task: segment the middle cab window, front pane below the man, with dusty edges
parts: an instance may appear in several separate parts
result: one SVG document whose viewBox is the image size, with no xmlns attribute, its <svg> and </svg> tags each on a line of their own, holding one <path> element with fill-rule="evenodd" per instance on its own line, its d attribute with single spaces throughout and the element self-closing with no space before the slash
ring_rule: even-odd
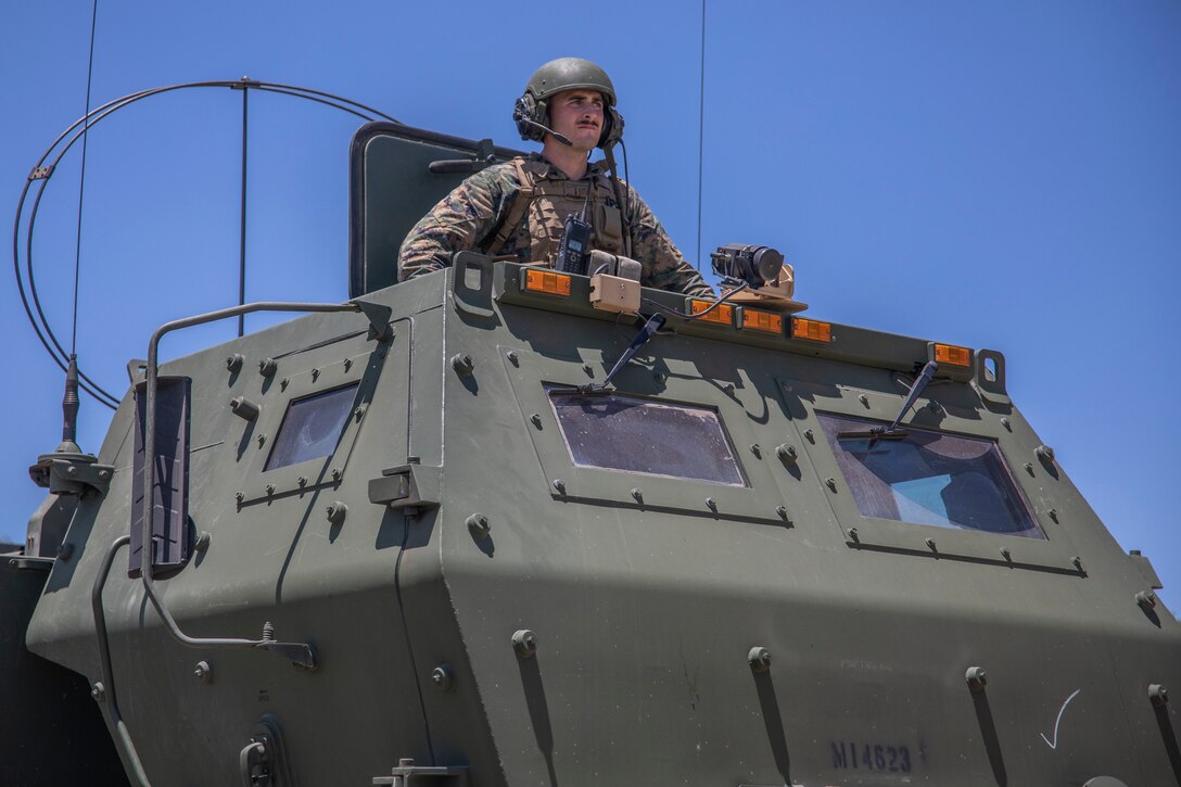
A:
<svg viewBox="0 0 1181 787">
<path fill-rule="evenodd" d="M 745 486 L 716 410 L 615 394 L 550 403 L 579 467 Z"/>
</svg>

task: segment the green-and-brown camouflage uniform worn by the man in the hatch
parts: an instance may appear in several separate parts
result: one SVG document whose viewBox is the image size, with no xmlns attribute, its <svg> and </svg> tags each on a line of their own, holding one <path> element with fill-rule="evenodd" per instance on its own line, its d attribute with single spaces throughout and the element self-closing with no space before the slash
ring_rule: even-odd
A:
<svg viewBox="0 0 1181 787">
<path fill-rule="evenodd" d="M 540 174 L 542 180 L 552 182 L 568 181 L 566 174 L 549 164 L 536 154 L 526 161 L 530 171 Z M 592 163 L 586 177 L 578 183 L 593 183 L 595 199 L 612 208 L 619 208 L 611 187 L 607 184 L 605 165 Z M 702 277 L 685 262 L 680 252 L 673 245 L 664 227 L 657 221 L 648 206 L 631 186 L 621 182 L 627 189 L 626 203 L 629 212 L 627 226 L 631 230 L 632 259 L 640 262 L 644 273 L 640 284 L 646 287 L 658 287 L 691 295 L 713 298 L 713 290 Z M 476 173 L 443 199 L 435 208 L 415 225 L 406 235 L 398 255 L 399 278 L 402 280 L 438 271 L 451 265 L 451 255 L 462 251 L 479 251 L 485 254 L 513 256 L 521 262 L 541 261 L 535 249 L 550 253 L 544 261 L 553 264 L 553 252 L 556 245 L 546 242 L 546 230 L 530 222 L 531 210 L 527 210 L 518 226 L 508 233 L 501 248 L 495 245 L 497 232 L 507 219 L 513 203 L 521 191 L 521 180 L 517 167 L 513 162 L 496 164 Z M 559 221 L 565 220 L 561 216 Z M 530 225 L 535 225 L 530 227 Z M 553 217 L 548 222 L 553 233 Z M 595 222 L 592 222 L 595 223 Z M 595 229 L 596 238 L 599 227 Z M 540 236 L 540 239 L 539 239 Z M 594 243 L 595 248 L 612 253 L 622 249 L 603 248 L 603 243 Z"/>
</svg>

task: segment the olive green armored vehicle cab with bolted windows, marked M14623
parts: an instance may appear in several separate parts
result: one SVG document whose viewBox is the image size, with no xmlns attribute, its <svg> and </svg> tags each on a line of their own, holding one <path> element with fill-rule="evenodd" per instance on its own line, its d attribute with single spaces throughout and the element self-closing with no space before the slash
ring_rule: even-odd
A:
<svg viewBox="0 0 1181 787">
<path fill-rule="evenodd" d="M 347 311 L 123 399 L 25 640 L 132 781 L 1177 782 L 1181 627 L 999 352 L 645 290 L 603 386 L 583 277 L 386 286 L 509 154 L 366 126 Z"/>
</svg>

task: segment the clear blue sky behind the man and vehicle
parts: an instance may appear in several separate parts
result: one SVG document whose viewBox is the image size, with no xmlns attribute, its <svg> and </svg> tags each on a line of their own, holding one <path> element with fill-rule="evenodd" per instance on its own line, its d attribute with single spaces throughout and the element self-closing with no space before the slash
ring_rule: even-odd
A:
<svg viewBox="0 0 1181 787">
<path fill-rule="evenodd" d="M 89 2 L 0 5 L 0 219 L 83 113 L 89 38 Z M 529 73 L 588 57 L 615 80 L 632 182 L 696 258 L 699 48 L 696 2 L 106 0 L 92 104 L 248 74 L 517 145 L 510 108 Z M 703 246 L 779 248 L 816 317 L 1003 351 L 1026 418 L 1175 609 L 1181 4 L 713 0 L 705 64 Z M 117 394 L 157 325 L 236 299 L 240 102 L 174 93 L 90 138 L 78 351 Z M 358 121 L 267 95 L 250 117 L 248 298 L 345 299 Z M 34 247 L 64 340 L 78 162 L 51 178 Z M 0 536 L 19 541 L 41 496 L 25 468 L 60 438 L 60 375 L 11 273 L 0 293 Z M 107 417 L 84 399 L 85 449 Z"/>
</svg>

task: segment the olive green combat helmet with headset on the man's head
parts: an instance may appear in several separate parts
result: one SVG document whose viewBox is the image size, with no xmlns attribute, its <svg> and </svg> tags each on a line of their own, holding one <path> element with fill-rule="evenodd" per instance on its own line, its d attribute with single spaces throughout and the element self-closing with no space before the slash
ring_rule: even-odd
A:
<svg viewBox="0 0 1181 787">
<path fill-rule="evenodd" d="M 516 121 L 521 138 L 537 142 L 544 139 L 546 131 L 539 125 L 549 125 L 548 102 L 567 90 L 594 90 L 602 93 L 606 106 L 599 147 L 611 148 L 619 142 L 624 136 L 624 118 L 615 110 L 615 86 L 606 71 L 583 58 L 557 58 L 533 72 L 524 93 L 513 108 L 513 119 Z"/>
</svg>

